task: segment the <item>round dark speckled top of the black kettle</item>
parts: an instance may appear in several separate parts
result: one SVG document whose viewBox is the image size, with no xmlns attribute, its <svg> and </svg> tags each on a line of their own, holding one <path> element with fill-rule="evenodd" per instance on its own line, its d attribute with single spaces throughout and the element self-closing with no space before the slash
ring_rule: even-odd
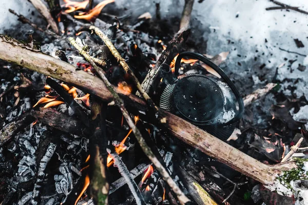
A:
<svg viewBox="0 0 308 205">
<path fill-rule="evenodd" d="M 198 124 L 214 120 L 223 110 L 220 87 L 204 75 L 181 76 L 174 90 L 174 99 L 176 109 Z"/>
</svg>

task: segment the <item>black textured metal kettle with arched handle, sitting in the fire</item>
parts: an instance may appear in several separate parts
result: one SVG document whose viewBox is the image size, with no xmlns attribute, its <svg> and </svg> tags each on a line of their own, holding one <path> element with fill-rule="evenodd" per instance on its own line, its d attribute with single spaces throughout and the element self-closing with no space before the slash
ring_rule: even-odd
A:
<svg viewBox="0 0 308 205">
<path fill-rule="evenodd" d="M 186 56 L 213 68 L 225 83 L 200 74 L 178 76 L 181 59 Z M 178 55 L 174 74 L 177 77 L 171 77 L 171 80 L 169 75 L 169 84 L 160 97 L 160 108 L 186 119 L 217 138 L 228 139 L 243 115 L 244 104 L 239 91 L 223 70 L 203 55 L 187 51 Z"/>
</svg>

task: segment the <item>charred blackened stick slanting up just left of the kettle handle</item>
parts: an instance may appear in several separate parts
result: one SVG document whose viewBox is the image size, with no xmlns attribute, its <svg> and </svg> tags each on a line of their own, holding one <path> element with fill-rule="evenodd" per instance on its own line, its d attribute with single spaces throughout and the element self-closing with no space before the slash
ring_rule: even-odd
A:
<svg viewBox="0 0 308 205">
<path fill-rule="evenodd" d="M 181 44 L 186 40 L 188 36 L 189 30 L 180 30 L 172 40 L 170 40 L 166 50 L 160 55 L 159 59 L 155 66 L 148 71 L 147 75 L 145 76 L 141 87 L 146 93 L 150 93 L 150 88 L 155 82 L 156 78 L 158 77 L 161 66 L 163 64 L 170 64 L 171 60 L 179 53 L 179 47 Z M 171 59 L 168 61 L 168 59 Z M 139 95 L 139 93 L 137 93 Z"/>
</svg>

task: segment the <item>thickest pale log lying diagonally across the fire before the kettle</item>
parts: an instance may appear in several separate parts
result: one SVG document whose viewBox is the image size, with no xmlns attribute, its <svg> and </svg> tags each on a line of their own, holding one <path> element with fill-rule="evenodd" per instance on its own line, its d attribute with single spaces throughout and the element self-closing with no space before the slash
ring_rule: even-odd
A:
<svg viewBox="0 0 308 205">
<path fill-rule="evenodd" d="M 66 83 L 79 87 L 85 92 L 101 97 L 104 101 L 113 100 L 110 91 L 98 77 L 84 71 L 76 71 L 75 67 L 70 64 L 27 48 L 16 40 L 3 35 L 0 35 L 0 59 L 66 81 Z M 120 93 L 119 90 L 117 92 Z M 146 104 L 142 99 L 131 94 L 121 95 L 121 97 L 125 103 L 130 103 L 133 107 L 146 111 Z M 265 165 L 186 120 L 161 109 L 160 111 L 166 122 L 161 125 L 166 127 L 172 135 L 265 185 L 274 183 L 277 174 L 282 171 L 297 168 L 293 161 L 275 166 Z"/>
</svg>

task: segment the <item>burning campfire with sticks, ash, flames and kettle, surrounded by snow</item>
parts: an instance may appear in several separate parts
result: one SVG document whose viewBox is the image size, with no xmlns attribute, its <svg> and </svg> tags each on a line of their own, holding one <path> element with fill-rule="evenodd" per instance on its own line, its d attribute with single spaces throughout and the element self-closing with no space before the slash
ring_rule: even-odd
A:
<svg viewBox="0 0 308 205">
<path fill-rule="evenodd" d="M 204 53 L 191 13 L 206 2 L 171 20 L 164 2 L 137 17 L 29 2 L 48 25 L 10 8 L 33 32 L 0 35 L 0 204 L 307 202 L 307 101 L 279 79 L 247 89 L 260 79 L 229 71 L 232 51 Z"/>
</svg>

